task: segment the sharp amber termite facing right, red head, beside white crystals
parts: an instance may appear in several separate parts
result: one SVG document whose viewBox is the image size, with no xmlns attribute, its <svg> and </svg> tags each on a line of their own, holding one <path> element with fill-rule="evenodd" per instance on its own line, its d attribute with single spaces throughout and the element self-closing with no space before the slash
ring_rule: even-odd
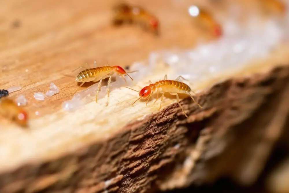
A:
<svg viewBox="0 0 289 193">
<path fill-rule="evenodd" d="M 79 68 L 83 68 L 83 67 L 79 67 Z M 81 82 L 79 87 L 81 87 L 85 82 L 91 82 L 91 81 L 92 82 L 99 82 L 98 87 L 97 87 L 97 93 L 95 96 L 95 100 L 97 102 L 97 95 L 100 91 L 102 80 L 108 78 L 107 93 L 108 93 L 108 97 L 109 97 L 110 82 L 111 82 L 111 79 L 112 79 L 112 76 L 114 75 L 114 73 L 116 75 L 120 76 L 121 78 L 123 78 L 123 80 L 125 80 L 124 76 L 127 75 L 132 81 L 134 81 L 131 78 L 131 76 L 129 76 L 129 74 L 128 74 L 128 73 L 132 73 L 132 72 L 136 72 L 136 71 L 125 71 L 120 66 L 109 66 L 108 64 L 106 64 L 105 66 L 102 66 L 102 67 L 89 68 L 89 69 L 85 69 L 85 70 L 79 72 L 78 75 L 76 76 L 75 82 Z M 125 83 L 127 83 L 126 80 L 125 80 Z"/>
</svg>

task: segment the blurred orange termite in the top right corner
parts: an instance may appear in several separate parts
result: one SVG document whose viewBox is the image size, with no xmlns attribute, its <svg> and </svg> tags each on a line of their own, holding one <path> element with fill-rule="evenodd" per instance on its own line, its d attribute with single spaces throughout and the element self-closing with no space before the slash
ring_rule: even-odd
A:
<svg viewBox="0 0 289 193">
<path fill-rule="evenodd" d="M 286 5 L 280 0 L 259 0 L 265 13 L 284 16 L 286 14 Z"/>
</svg>

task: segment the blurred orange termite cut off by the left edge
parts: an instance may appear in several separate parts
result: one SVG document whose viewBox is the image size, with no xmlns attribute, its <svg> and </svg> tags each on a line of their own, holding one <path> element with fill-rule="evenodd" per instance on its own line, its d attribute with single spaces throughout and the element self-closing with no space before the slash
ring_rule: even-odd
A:
<svg viewBox="0 0 289 193">
<path fill-rule="evenodd" d="M 27 127 L 27 112 L 8 97 L 0 99 L 0 114 L 22 127 Z"/>
</svg>

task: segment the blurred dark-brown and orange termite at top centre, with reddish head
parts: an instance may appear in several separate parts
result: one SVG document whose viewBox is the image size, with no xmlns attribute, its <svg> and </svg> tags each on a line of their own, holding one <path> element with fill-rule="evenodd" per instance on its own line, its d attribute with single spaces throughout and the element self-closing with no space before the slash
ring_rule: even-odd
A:
<svg viewBox="0 0 289 193">
<path fill-rule="evenodd" d="M 141 7 L 130 6 L 126 3 L 120 3 L 114 7 L 113 23 L 114 25 L 136 23 L 156 35 L 159 34 L 159 21 L 153 14 Z"/>
</svg>

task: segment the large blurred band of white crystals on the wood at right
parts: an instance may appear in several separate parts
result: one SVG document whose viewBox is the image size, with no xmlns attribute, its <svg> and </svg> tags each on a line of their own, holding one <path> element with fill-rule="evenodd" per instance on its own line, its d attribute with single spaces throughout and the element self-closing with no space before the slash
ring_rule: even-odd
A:
<svg viewBox="0 0 289 193">
<path fill-rule="evenodd" d="M 269 20 L 263 26 L 258 25 L 258 21 L 250 21 L 244 30 L 227 33 L 217 41 L 181 53 L 167 51 L 160 55 L 177 76 L 204 80 L 221 71 L 242 69 L 254 58 L 268 56 L 283 38 L 284 29 L 275 21 Z"/>
</svg>

